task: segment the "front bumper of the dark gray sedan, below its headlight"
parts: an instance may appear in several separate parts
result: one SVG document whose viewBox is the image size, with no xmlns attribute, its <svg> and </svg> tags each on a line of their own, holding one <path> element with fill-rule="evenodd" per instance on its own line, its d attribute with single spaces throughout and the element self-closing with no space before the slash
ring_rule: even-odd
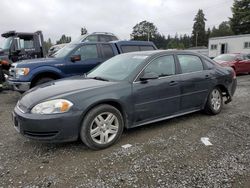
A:
<svg viewBox="0 0 250 188">
<path fill-rule="evenodd" d="M 23 113 L 15 107 L 14 128 L 23 136 L 44 142 L 69 142 L 78 139 L 81 112 L 40 115 Z"/>
</svg>

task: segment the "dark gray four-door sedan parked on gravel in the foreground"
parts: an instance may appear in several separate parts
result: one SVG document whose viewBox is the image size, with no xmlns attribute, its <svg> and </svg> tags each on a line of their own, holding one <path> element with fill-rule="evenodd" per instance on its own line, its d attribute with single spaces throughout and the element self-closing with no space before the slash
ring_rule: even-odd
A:
<svg viewBox="0 0 250 188">
<path fill-rule="evenodd" d="M 235 89 L 232 68 L 196 53 L 122 54 L 86 76 L 49 82 L 26 92 L 14 109 L 14 127 L 31 139 L 80 138 L 89 148 L 103 149 L 114 144 L 124 128 L 200 110 L 218 114 Z"/>
</svg>

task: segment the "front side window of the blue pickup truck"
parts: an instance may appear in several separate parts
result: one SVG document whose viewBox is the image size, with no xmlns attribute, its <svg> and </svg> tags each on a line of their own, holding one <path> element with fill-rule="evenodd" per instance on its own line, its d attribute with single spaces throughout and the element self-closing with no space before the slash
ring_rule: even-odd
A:
<svg viewBox="0 0 250 188">
<path fill-rule="evenodd" d="M 81 46 L 74 52 L 74 55 L 80 55 L 81 60 L 98 58 L 97 47 L 95 44 Z"/>
</svg>

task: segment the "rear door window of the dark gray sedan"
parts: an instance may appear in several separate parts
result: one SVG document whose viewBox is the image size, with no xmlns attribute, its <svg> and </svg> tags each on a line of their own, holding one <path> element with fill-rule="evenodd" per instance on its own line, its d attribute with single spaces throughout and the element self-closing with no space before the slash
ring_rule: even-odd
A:
<svg viewBox="0 0 250 188">
<path fill-rule="evenodd" d="M 199 57 L 194 55 L 177 55 L 182 73 L 197 72 L 203 70 L 203 64 Z"/>
</svg>

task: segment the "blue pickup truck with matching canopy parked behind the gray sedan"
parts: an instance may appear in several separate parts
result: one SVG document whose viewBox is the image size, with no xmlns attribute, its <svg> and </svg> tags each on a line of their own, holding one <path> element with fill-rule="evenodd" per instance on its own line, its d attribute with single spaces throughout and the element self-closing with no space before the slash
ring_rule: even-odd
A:
<svg viewBox="0 0 250 188">
<path fill-rule="evenodd" d="M 50 58 L 13 63 L 8 83 L 24 92 L 56 79 L 83 75 L 105 60 L 127 52 L 156 50 L 152 42 L 112 41 L 68 44 Z"/>
</svg>

